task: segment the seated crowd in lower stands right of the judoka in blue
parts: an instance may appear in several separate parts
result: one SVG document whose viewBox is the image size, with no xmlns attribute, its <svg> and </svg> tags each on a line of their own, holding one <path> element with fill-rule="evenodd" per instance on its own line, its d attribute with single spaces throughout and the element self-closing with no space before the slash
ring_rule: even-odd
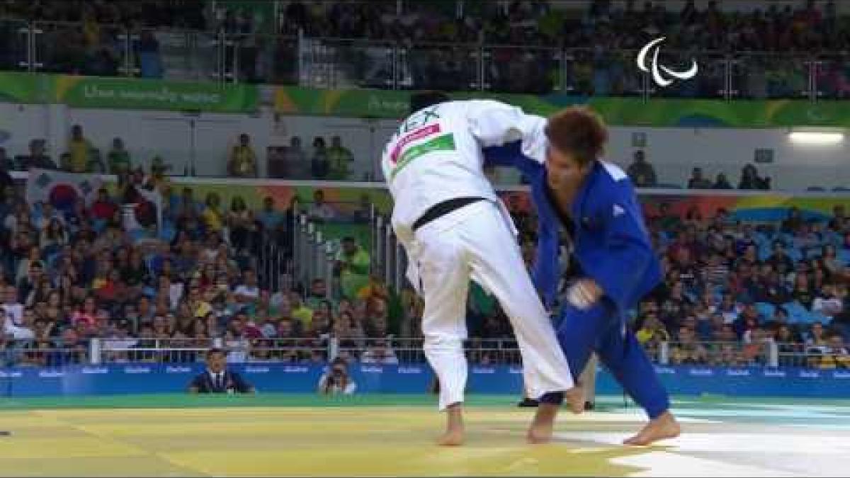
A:
<svg viewBox="0 0 850 478">
<path fill-rule="evenodd" d="M 526 225 L 533 258 L 534 219 Z M 662 203 L 647 222 L 664 282 L 634 311 L 632 327 L 650 355 L 670 344 L 672 364 L 766 365 L 768 343 L 779 365 L 848 368 L 850 217 L 837 206 L 829 221 L 791 208 L 780 224 L 741 222 L 718 209 L 672 213 Z"/>
</svg>

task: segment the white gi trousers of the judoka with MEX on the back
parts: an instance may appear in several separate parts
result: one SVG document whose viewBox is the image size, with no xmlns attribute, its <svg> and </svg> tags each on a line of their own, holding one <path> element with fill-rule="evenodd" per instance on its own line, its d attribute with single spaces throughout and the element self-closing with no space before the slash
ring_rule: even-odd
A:
<svg viewBox="0 0 850 478">
<path fill-rule="evenodd" d="M 570 366 L 525 269 L 513 230 L 494 202 L 474 202 L 422 225 L 409 249 L 421 281 L 414 287 L 421 289 L 425 301 L 424 351 L 439 378 L 441 411 L 463 401 L 467 383 L 463 340 L 470 279 L 494 294 L 510 318 L 530 396 L 573 387 Z"/>
</svg>

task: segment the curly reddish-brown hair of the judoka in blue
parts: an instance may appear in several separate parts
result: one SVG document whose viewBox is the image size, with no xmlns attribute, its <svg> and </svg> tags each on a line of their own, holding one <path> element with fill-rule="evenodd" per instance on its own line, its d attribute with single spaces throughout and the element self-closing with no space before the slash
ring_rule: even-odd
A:
<svg viewBox="0 0 850 478">
<path fill-rule="evenodd" d="M 599 159 L 608 141 L 608 129 L 602 118 L 583 106 L 558 111 L 546 125 L 549 144 L 570 153 L 580 166 Z"/>
</svg>

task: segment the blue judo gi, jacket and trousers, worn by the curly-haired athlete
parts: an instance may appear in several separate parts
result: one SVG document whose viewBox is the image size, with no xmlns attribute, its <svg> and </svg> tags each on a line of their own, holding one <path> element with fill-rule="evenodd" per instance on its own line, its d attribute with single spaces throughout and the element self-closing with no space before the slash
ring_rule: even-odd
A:
<svg viewBox="0 0 850 478">
<path fill-rule="evenodd" d="M 544 304 L 551 308 L 558 295 L 559 231 L 572 226 L 573 257 L 581 276 L 604 291 L 587 310 L 565 303 L 560 312 L 558 342 L 578 380 L 592 351 L 649 418 L 670 407 L 655 367 L 626 327 L 626 310 L 636 306 L 661 280 L 660 263 L 652 250 L 631 181 L 620 168 L 595 162 L 562 219 L 547 191 L 546 167 L 523 156 L 519 143 L 484 150 L 492 165 L 519 168 L 530 182 L 538 215 L 537 255 L 532 279 Z M 572 224 L 564 224 L 571 219 Z M 578 277 L 576 277 L 578 278 Z"/>
</svg>

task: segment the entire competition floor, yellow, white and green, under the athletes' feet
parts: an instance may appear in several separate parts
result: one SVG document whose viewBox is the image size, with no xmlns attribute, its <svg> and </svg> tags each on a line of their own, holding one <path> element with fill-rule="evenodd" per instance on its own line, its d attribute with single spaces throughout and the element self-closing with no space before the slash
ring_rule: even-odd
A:
<svg viewBox="0 0 850 478">
<path fill-rule="evenodd" d="M 619 445 L 643 424 L 622 397 L 562 414 L 524 444 L 533 411 L 469 397 L 467 445 L 433 445 L 427 395 L 144 395 L 0 400 L 0 475 L 847 475 L 850 401 L 688 398 L 683 436 Z"/>
</svg>

